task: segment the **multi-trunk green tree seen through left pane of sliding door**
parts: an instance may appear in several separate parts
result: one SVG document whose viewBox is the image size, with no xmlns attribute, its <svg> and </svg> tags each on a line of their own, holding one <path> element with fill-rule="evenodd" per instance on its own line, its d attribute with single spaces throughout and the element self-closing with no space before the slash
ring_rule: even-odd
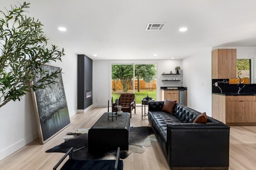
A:
<svg viewBox="0 0 256 170">
<path fill-rule="evenodd" d="M 119 79 L 122 84 L 122 92 L 128 91 L 128 85 L 130 79 L 133 77 L 133 65 L 132 64 L 116 64 L 112 65 L 112 79 Z"/>
</svg>

